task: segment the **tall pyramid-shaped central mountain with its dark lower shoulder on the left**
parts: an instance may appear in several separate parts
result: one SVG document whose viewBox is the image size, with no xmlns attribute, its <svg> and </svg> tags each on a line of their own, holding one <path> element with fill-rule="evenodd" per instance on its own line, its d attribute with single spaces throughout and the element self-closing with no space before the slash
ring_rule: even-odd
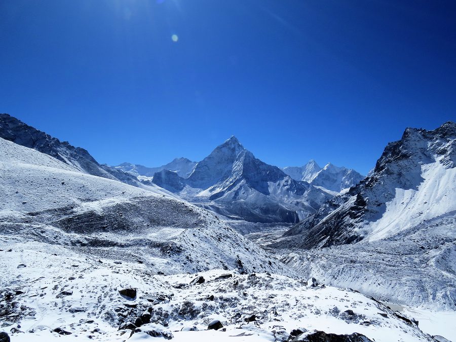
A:
<svg viewBox="0 0 456 342">
<path fill-rule="evenodd" d="M 152 182 L 223 216 L 250 222 L 297 222 L 332 197 L 256 159 L 234 136 L 188 178 L 162 171 Z"/>
</svg>

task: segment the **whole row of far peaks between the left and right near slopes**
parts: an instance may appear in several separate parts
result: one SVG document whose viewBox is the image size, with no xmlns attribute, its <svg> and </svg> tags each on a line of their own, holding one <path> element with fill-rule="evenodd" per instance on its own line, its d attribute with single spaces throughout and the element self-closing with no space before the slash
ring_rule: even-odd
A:
<svg viewBox="0 0 456 342">
<path fill-rule="evenodd" d="M 156 168 L 130 163 L 112 168 L 229 219 L 261 223 L 296 223 L 364 179 L 352 169 L 330 163 L 320 168 L 314 161 L 280 169 L 256 159 L 234 136 L 198 163 L 176 158 Z"/>
</svg>

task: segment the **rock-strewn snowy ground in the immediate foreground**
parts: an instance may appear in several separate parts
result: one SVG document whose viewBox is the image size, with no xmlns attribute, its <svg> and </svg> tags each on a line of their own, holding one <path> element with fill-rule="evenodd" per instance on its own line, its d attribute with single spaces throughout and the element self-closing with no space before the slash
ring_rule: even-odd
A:
<svg viewBox="0 0 456 342">
<path fill-rule="evenodd" d="M 0 247 L 1 329 L 13 342 L 123 341 L 132 333 L 119 330 L 125 322 L 145 324 L 130 340 L 156 340 L 147 332 L 162 331 L 176 341 L 283 341 L 298 328 L 358 332 L 376 342 L 432 340 L 360 293 L 313 287 L 312 281 L 235 270 L 159 276 L 143 264 L 92 258 L 62 246 L 2 241 Z M 205 281 L 192 285 L 200 276 Z M 124 288 L 136 289 L 135 298 L 121 295 Z M 206 330 L 215 319 L 226 331 Z"/>
</svg>

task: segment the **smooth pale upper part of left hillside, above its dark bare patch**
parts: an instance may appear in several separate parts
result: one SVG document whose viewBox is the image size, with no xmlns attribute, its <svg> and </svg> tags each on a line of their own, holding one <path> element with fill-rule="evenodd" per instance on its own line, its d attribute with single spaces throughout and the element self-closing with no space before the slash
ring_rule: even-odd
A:
<svg viewBox="0 0 456 342">
<path fill-rule="evenodd" d="M 3 212 L 41 211 L 107 198 L 175 197 L 157 186 L 138 188 L 82 173 L 53 157 L 2 138 L 0 177 Z"/>
</svg>

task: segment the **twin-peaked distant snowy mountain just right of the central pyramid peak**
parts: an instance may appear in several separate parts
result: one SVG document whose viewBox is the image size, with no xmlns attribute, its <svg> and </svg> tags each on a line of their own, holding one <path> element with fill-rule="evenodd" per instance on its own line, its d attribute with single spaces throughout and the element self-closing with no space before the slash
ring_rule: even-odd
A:
<svg viewBox="0 0 456 342">
<path fill-rule="evenodd" d="M 337 193 L 355 186 L 365 178 L 353 169 L 337 167 L 331 163 L 321 168 L 314 160 L 301 167 L 288 166 L 282 171 L 295 180 L 303 180 Z"/>
</svg>

